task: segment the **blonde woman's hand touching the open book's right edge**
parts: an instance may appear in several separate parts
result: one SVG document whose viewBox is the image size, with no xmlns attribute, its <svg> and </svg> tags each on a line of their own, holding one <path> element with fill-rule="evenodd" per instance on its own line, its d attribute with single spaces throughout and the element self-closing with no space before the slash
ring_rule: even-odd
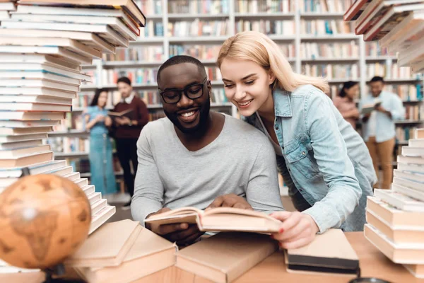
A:
<svg viewBox="0 0 424 283">
<path fill-rule="evenodd" d="M 280 242 L 281 248 L 293 249 L 306 246 L 314 240 L 315 234 L 319 231 L 314 219 L 308 214 L 274 212 L 270 216 L 282 222 L 280 231 L 271 235 Z"/>
</svg>

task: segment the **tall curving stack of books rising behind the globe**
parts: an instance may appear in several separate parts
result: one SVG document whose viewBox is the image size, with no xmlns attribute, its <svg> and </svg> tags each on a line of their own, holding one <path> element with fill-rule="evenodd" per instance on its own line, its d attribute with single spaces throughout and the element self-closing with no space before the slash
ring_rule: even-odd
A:
<svg viewBox="0 0 424 283">
<path fill-rule="evenodd" d="M 92 233 L 115 208 L 43 139 L 90 81 L 81 64 L 127 47 L 146 18 L 132 0 L 0 0 L 3 8 L 12 11 L 0 21 L 0 193 L 24 168 L 69 178 L 90 201 Z"/>
</svg>

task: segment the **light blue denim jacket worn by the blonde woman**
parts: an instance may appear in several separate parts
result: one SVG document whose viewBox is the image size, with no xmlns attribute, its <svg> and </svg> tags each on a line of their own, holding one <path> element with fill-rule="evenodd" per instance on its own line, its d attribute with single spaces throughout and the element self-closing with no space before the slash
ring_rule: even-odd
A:
<svg viewBox="0 0 424 283">
<path fill-rule="evenodd" d="M 273 101 L 274 130 L 283 153 L 277 156 L 278 169 L 290 195 L 300 193 L 312 205 L 303 213 L 312 216 L 320 233 L 330 228 L 363 231 L 367 196 L 377 181 L 363 139 L 314 86 L 274 91 Z M 266 131 L 257 115 L 246 120 Z"/>
</svg>

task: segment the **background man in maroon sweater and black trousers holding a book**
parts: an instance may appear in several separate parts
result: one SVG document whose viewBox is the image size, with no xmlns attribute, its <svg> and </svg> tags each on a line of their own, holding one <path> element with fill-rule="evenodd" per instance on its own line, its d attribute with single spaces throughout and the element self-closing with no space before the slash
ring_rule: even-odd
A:
<svg viewBox="0 0 424 283">
<path fill-rule="evenodd" d="M 131 161 L 134 173 L 137 172 L 137 139 L 141 129 L 148 123 L 148 110 L 143 100 L 133 93 L 131 80 L 125 76 L 117 81 L 121 101 L 115 105 L 114 112 L 130 110 L 121 117 L 114 118 L 114 139 L 117 144 L 117 155 L 124 171 L 124 181 L 129 195 L 134 195 L 134 176 L 131 173 Z M 130 209 L 131 201 L 124 204 L 122 209 Z"/>
</svg>

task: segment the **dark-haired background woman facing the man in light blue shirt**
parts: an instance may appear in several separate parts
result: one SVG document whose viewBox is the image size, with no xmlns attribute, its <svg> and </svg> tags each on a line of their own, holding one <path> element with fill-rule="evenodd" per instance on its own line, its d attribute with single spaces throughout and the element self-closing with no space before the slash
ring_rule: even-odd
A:
<svg viewBox="0 0 424 283">
<path fill-rule="evenodd" d="M 356 122 L 359 119 L 359 110 L 355 104 L 358 92 L 358 82 L 346 81 L 346 83 L 343 83 L 343 88 L 341 88 L 338 96 L 333 100 L 334 106 L 340 111 L 343 118 L 352 125 L 353 129 L 356 129 Z"/>
</svg>

